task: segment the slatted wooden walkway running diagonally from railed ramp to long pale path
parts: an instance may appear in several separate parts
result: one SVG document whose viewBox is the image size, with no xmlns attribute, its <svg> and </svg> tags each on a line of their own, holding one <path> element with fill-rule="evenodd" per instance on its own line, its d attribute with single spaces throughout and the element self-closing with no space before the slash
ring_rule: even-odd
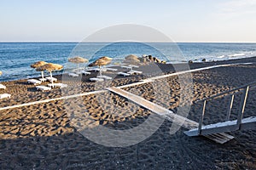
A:
<svg viewBox="0 0 256 170">
<path fill-rule="evenodd" d="M 143 106 L 145 109 L 148 109 L 149 111 L 152 111 L 160 116 L 164 116 L 167 120 L 177 123 L 178 125 L 185 127 L 187 129 L 195 129 L 198 128 L 199 123 L 192 121 L 186 117 L 179 116 L 172 111 L 167 110 L 166 108 L 156 105 L 147 99 L 143 99 L 140 96 L 137 96 L 135 94 L 131 94 L 123 89 L 120 88 L 107 88 L 110 92 L 113 92 L 114 94 L 119 94 L 120 96 L 131 100 L 132 102 L 136 103 L 137 105 Z M 230 139 L 233 139 L 234 137 L 227 134 L 227 133 L 215 133 L 210 135 L 204 135 L 208 139 L 212 139 L 215 142 L 219 144 L 224 144 L 225 142 L 229 141 Z"/>
</svg>

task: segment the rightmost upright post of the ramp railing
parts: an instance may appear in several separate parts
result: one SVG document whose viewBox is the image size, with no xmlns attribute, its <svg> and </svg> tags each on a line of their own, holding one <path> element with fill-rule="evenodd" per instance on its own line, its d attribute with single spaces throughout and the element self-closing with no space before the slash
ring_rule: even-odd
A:
<svg viewBox="0 0 256 170">
<path fill-rule="evenodd" d="M 249 86 L 247 88 L 244 88 L 243 93 L 241 94 L 241 102 L 240 102 L 240 107 L 239 107 L 239 113 L 237 116 L 237 121 L 236 121 L 236 130 L 240 129 L 241 125 L 241 119 L 244 113 L 245 105 L 247 103 L 247 94 L 248 94 Z"/>
</svg>

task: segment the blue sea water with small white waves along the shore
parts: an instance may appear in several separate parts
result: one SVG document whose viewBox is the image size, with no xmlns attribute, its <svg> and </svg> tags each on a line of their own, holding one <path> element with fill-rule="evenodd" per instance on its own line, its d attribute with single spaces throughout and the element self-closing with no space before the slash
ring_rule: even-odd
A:
<svg viewBox="0 0 256 170">
<path fill-rule="evenodd" d="M 172 63 L 239 59 L 256 56 L 256 43 L 0 42 L 0 82 L 39 76 L 30 68 L 38 60 L 75 67 L 67 63 L 68 57 L 80 55 L 92 62 L 106 55 L 119 62 L 128 54 L 152 54 Z"/>
</svg>

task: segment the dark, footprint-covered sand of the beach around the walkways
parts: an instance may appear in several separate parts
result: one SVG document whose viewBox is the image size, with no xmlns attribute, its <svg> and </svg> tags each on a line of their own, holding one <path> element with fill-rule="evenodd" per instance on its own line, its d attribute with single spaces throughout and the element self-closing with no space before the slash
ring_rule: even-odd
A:
<svg viewBox="0 0 256 170">
<path fill-rule="evenodd" d="M 252 65 L 232 65 L 206 71 L 196 71 L 192 99 L 204 99 L 231 88 L 256 80 L 256 58 L 237 59 L 190 65 L 191 69 L 209 65 L 253 62 Z M 161 74 L 173 72 L 171 65 L 160 65 Z M 147 67 L 137 70 L 148 71 Z M 113 76 L 113 73 L 105 73 Z M 138 82 L 145 76 L 116 77 L 100 84 L 90 82 L 91 76 L 79 78 L 57 76 L 68 84 L 66 89 L 38 92 L 26 80 L 3 82 L 7 86 L 1 93 L 12 94 L 2 99 L 0 108 L 36 100 L 85 93 L 105 86 L 120 86 Z M 183 106 L 178 77 L 159 79 L 136 87 L 124 88 L 158 105 L 176 112 Z M 164 83 L 163 83 L 164 82 Z M 47 84 L 49 82 L 44 82 Z M 158 94 L 156 94 L 156 92 Z M 161 94 L 161 92 L 167 92 Z M 248 94 L 245 116 L 255 116 L 256 89 Z M 231 119 L 236 117 L 241 94 L 235 97 Z M 215 99 L 207 104 L 205 123 L 223 121 L 227 98 Z M 235 139 L 216 144 L 204 137 L 191 138 L 180 128 L 170 134 L 172 122 L 165 121 L 148 139 L 125 148 L 107 147 L 86 139 L 82 129 L 100 125 L 109 129 L 131 129 L 153 115 L 131 101 L 108 92 L 79 98 L 57 100 L 0 111 L 0 167 L 3 169 L 254 169 L 256 168 L 256 131 L 230 133 Z M 188 118 L 196 122 L 201 116 L 201 103 L 191 105 Z M 148 129 L 145 129 L 148 130 Z M 103 134 L 102 134 L 103 135 Z M 106 135 L 106 134 L 105 134 Z"/>
</svg>

